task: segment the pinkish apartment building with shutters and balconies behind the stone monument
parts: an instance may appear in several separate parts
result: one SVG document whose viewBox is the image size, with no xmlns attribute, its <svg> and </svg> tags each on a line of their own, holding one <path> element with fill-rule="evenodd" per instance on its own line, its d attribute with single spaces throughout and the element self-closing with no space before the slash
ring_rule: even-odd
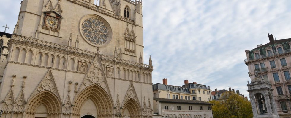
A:
<svg viewBox="0 0 291 118">
<path fill-rule="evenodd" d="M 257 48 L 246 50 L 245 64 L 253 81 L 257 73 L 272 85 L 275 106 L 280 117 L 291 117 L 291 38 L 274 40 L 268 35 L 269 43 L 257 45 Z M 252 98 L 254 96 L 250 96 Z"/>
</svg>

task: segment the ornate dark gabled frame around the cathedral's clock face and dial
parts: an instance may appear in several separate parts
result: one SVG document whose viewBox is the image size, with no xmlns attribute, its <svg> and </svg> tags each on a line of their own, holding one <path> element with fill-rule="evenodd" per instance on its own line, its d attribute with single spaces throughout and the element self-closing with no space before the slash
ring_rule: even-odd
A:
<svg viewBox="0 0 291 118">
<path fill-rule="evenodd" d="M 55 16 L 53 16 L 51 13 L 55 14 Z M 44 19 L 43 19 L 43 24 L 42 24 L 42 29 L 46 29 L 46 30 L 51 30 L 53 32 L 59 32 L 60 31 L 60 26 L 61 26 L 61 15 L 59 15 L 58 13 L 51 11 L 51 12 L 44 12 Z M 56 28 L 55 27 L 50 27 L 46 24 L 47 19 L 51 18 L 51 19 L 56 19 L 57 20 L 57 25 Z"/>
</svg>

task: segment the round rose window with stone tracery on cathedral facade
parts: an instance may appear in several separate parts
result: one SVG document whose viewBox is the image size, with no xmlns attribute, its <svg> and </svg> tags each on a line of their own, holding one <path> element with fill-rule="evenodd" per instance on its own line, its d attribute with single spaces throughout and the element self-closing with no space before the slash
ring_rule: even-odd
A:
<svg viewBox="0 0 291 118">
<path fill-rule="evenodd" d="M 85 40 L 93 45 L 102 45 L 110 40 L 110 30 L 97 17 L 89 17 L 81 24 L 81 32 Z"/>
</svg>

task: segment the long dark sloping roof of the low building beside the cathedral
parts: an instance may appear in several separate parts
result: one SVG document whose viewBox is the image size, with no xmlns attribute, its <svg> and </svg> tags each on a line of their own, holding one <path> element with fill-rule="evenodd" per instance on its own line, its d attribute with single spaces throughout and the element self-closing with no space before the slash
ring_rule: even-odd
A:
<svg viewBox="0 0 291 118">
<path fill-rule="evenodd" d="M 170 103 L 186 103 L 186 104 L 210 104 L 205 101 L 199 101 L 199 100 L 181 100 L 181 99 L 167 99 L 167 98 L 153 98 L 156 101 L 159 102 L 170 102 Z"/>
</svg>

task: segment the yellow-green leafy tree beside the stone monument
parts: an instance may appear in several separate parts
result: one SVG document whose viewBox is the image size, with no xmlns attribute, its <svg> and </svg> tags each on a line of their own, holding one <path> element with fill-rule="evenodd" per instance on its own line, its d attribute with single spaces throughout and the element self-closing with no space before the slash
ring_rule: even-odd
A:
<svg viewBox="0 0 291 118">
<path fill-rule="evenodd" d="M 218 101 L 210 101 L 213 104 L 213 118 L 252 118 L 252 105 L 250 101 L 233 92 L 225 92 Z"/>
</svg>

